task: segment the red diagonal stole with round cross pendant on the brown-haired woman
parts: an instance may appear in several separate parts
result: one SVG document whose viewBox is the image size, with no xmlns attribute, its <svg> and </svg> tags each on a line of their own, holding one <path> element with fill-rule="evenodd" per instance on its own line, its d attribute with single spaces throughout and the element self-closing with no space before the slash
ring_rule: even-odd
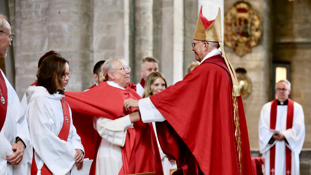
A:
<svg viewBox="0 0 311 175">
<path fill-rule="evenodd" d="M 63 106 L 63 114 L 64 114 L 64 122 L 63 122 L 63 127 L 60 130 L 58 137 L 61 140 L 65 140 L 67 141 L 68 139 L 68 135 L 69 135 L 69 130 L 70 130 L 70 111 L 69 111 L 69 106 L 68 106 L 68 102 L 65 101 L 65 98 L 63 97 L 61 100 L 62 102 L 62 106 Z M 66 110 L 65 110 L 66 108 Z M 65 115 L 65 111 L 66 111 L 66 115 Z M 68 116 L 68 117 L 66 117 Z M 35 149 L 33 150 L 33 156 L 32 156 L 32 164 L 31 164 L 31 169 L 30 169 L 30 174 L 31 175 L 36 175 L 38 172 L 38 168 L 35 162 Z M 41 175 L 52 175 L 53 173 L 49 170 L 49 168 L 45 165 L 45 163 L 43 164 L 42 168 L 41 168 Z"/>
</svg>

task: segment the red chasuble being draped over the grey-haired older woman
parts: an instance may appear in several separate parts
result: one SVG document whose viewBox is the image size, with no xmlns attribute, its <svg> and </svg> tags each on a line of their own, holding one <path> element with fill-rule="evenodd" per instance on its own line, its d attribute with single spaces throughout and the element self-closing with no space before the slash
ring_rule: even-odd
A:
<svg viewBox="0 0 311 175">
<path fill-rule="evenodd" d="M 93 116 L 115 120 L 128 115 L 137 110 L 134 108 L 132 111 L 125 110 L 123 101 L 128 98 L 136 100 L 141 98 L 136 93 L 136 86 L 133 83 L 130 83 L 125 90 L 103 82 L 86 92 L 66 92 L 66 99 L 72 110 L 73 124 L 81 137 L 86 155 L 91 152 L 89 158 L 94 159 L 90 174 L 95 174 L 95 159 L 101 140 L 93 127 Z M 123 166 L 119 175 L 144 172 L 163 175 L 152 124 L 140 120 L 134 122 L 133 126 L 134 128 L 128 129 L 125 144 L 121 147 Z"/>
</svg>

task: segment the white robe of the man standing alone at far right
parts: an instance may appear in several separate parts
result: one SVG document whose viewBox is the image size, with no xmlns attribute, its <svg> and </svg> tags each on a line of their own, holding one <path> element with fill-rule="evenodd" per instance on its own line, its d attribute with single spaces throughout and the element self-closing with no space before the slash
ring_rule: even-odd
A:
<svg viewBox="0 0 311 175">
<path fill-rule="evenodd" d="M 276 145 L 275 149 L 275 175 L 285 175 L 286 154 L 285 141 L 275 140 L 269 144 L 273 132 L 270 131 L 270 112 L 272 102 L 266 103 L 261 110 L 259 120 L 259 149 L 262 157 L 265 158 L 266 174 L 270 173 L 270 148 Z M 275 130 L 283 134 L 288 141 L 286 144 L 292 151 L 291 175 L 299 175 L 299 153 L 304 144 L 305 127 L 304 112 L 302 106 L 294 102 L 293 127 L 286 130 L 287 105 L 277 105 Z"/>
</svg>

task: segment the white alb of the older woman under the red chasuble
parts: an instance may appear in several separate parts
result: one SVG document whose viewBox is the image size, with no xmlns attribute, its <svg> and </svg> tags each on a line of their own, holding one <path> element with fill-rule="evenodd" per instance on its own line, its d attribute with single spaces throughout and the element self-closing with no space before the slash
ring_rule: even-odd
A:
<svg viewBox="0 0 311 175">
<path fill-rule="evenodd" d="M 103 82 L 106 83 L 106 82 Z M 110 86 L 125 89 L 107 81 Z M 125 144 L 126 133 L 133 128 L 129 115 L 115 120 L 94 117 L 94 128 L 102 137 L 96 158 L 96 175 L 117 175 L 123 166 L 121 147 Z"/>
</svg>

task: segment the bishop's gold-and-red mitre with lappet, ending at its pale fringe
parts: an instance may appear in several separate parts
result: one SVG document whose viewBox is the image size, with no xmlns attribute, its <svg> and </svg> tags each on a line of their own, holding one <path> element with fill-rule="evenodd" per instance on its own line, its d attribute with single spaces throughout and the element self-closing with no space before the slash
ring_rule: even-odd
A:
<svg viewBox="0 0 311 175">
<path fill-rule="evenodd" d="M 200 14 L 197 18 L 197 26 L 194 31 L 193 40 L 212 41 L 212 42 L 219 43 L 222 55 L 225 59 L 225 62 L 227 64 L 227 67 L 231 75 L 232 84 L 233 84 L 232 95 L 234 97 L 240 96 L 240 86 L 239 86 L 238 78 L 235 74 L 235 71 L 232 65 L 230 64 L 229 59 L 227 58 L 225 54 L 224 44 L 222 42 L 220 8 L 219 8 L 217 17 L 214 20 L 208 21 L 207 18 L 203 17 L 202 15 L 202 6 L 201 6 Z"/>
</svg>

